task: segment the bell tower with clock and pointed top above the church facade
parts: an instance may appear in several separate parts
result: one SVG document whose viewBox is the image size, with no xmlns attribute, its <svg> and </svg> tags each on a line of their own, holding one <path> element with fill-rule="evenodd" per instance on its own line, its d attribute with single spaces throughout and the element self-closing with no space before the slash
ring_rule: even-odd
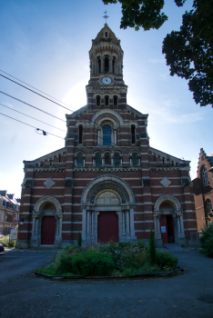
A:
<svg viewBox="0 0 213 318">
<path fill-rule="evenodd" d="M 87 109 L 124 109 L 127 85 L 123 80 L 123 56 L 120 40 L 107 24 L 92 40 L 89 51 L 90 79 L 86 85 Z"/>
</svg>

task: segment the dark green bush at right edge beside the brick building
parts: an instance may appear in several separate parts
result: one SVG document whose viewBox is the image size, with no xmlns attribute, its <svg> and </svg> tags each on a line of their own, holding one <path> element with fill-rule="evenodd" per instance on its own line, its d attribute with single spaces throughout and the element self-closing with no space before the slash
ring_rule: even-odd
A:
<svg viewBox="0 0 213 318">
<path fill-rule="evenodd" d="M 201 253 L 213 257 L 213 226 L 206 225 L 201 230 L 200 246 L 202 247 Z"/>
</svg>

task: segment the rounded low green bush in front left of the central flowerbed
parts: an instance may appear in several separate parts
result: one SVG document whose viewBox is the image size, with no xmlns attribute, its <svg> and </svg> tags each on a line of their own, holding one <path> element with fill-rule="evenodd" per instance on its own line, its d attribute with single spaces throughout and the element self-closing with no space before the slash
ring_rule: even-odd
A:
<svg viewBox="0 0 213 318">
<path fill-rule="evenodd" d="M 109 254 L 86 251 L 72 256 L 72 269 L 78 275 L 108 275 L 115 269 L 115 263 Z"/>
</svg>

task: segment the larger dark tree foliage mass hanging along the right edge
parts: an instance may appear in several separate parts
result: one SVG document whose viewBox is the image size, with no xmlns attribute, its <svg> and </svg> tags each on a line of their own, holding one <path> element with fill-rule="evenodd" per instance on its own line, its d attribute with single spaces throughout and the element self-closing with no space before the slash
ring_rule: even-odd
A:
<svg viewBox="0 0 213 318">
<path fill-rule="evenodd" d="M 180 31 L 163 42 L 170 75 L 188 80 L 196 104 L 213 107 L 213 0 L 195 0 L 183 15 Z"/>
</svg>

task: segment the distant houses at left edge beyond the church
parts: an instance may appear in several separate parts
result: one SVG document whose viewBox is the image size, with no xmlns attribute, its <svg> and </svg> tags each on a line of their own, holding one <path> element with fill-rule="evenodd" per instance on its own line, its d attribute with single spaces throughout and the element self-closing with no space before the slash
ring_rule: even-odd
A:
<svg viewBox="0 0 213 318">
<path fill-rule="evenodd" d="M 19 221 L 20 199 L 15 199 L 14 194 L 6 194 L 0 190 L 0 234 L 10 234 Z"/>
</svg>

